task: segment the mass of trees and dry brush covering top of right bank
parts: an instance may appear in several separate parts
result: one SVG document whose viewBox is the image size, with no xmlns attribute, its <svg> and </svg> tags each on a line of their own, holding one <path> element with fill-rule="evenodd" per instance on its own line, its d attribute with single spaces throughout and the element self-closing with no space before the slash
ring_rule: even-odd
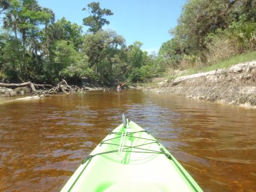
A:
<svg viewBox="0 0 256 192">
<path fill-rule="evenodd" d="M 159 58 L 172 68 L 202 69 L 256 50 L 255 21 L 255 1 L 187 1 L 178 25 L 169 31 L 173 38 L 162 44 Z"/>
</svg>

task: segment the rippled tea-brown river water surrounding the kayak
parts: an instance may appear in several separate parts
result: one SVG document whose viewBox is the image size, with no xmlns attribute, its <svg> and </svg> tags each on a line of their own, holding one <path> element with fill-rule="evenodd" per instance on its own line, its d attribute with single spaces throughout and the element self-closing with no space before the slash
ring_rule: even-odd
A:
<svg viewBox="0 0 256 192">
<path fill-rule="evenodd" d="M 204 191 L 256 191 L 255 109 L 140 90 L 3 100 L 0 191 L 61 190 L 83 157 L 122 123 L 122 113 L 158 139 Z"/>
</svg>

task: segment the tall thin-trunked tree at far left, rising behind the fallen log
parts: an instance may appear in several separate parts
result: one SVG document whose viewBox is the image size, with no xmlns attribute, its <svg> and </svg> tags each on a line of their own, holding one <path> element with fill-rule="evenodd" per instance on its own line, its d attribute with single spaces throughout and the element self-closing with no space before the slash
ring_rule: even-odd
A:
<svg viewBox="0 0 256 192">
<path fill-rule="evenodd" d="M 6 29 L 14 31 L 16 39 L 22 41 L 22 65 L 19 66 L 21 81 L 30 80 L 34 70 L 41 69 L 38 53 L 41 52 L 41 25 L 49 21 L 52 15 L 46 13 L 35 0 L 10 1 L 10 7 L 3 18 Z M 20 40 L 20 39 L 19 39 Z M 20 62 L 19 62 L 20 63 Z M 27 79 L 29 78 L 29 79 Z"/>
</svg>

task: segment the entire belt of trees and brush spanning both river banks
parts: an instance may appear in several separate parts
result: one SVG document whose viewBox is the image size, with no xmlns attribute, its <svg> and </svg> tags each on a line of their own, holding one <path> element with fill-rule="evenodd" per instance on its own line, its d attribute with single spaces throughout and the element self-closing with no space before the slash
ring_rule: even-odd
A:
<svg viewBox="0 0 256 192">
<path fill-rule="evenodd" d="M 256 49 L 253 0 L 186 1 L 170 39 L 151 54 L 142 42 L 126 45 L 122 35 L 103 30 L 115 15 L 99 2 L 81 10 L 87 31 L 65 17 L 56 21 L 36 0 L 1 0 L 0 81 L 143 82 L 170 68 L 199 68 Z"/>
</svg>

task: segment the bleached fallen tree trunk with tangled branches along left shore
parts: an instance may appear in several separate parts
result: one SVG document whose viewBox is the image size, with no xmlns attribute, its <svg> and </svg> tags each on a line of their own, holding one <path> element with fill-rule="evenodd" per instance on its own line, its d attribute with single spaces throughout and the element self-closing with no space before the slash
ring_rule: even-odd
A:
<svg viewBox="0 0 256 192">
<path fill-rule="evenodd" d="M 70 86 L 67 84 L 67 82 L 62 79 L 62 82 L 58 83 L 57 86 L 52 87 L 52 85 L 39 85 L 31 82 L 25 82 L 25 83 L 0 83 L 0 86 L 2 87 L 25 87 L 28 86 L 31 90 L 30 95 L 41 95 L 43 97 L 44 95 L 49 94 L 55 94 L 58 92 L 63 92 L 65 94 L 73 94 L 78 93 L 81 91 L 81 89 L 78 86 Z M 35 87 L 41 87 L 41 90 L 35 89 Z M 51 89 L 46 89 L 45 87 L 52 87 Z"/>
</svg>

